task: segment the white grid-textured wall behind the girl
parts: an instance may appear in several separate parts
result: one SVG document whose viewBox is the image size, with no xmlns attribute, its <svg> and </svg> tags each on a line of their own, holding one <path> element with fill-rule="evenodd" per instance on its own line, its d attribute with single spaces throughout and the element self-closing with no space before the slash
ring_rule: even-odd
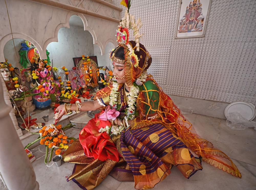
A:
<svg viewBox="0 0 256 190">
<path fill-rule="evenodd" d="M 212 1 L 205 37 L 188 39 L 174 39 L 178 5 L 132 1 L 130 13 L 143 23 L 141 43 L 152 55 L 149 73 L 168 94 L 256 105 L 256 1 Z"/>
</svg>

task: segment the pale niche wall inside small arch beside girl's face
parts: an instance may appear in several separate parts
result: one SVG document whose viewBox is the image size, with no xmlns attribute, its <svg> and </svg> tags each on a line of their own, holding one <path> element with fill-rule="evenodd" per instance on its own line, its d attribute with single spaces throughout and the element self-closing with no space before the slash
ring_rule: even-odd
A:
<svg viewBox="0 0 256 190">
<path fill-rule="evenodd" d="M 115 48 L 115 45 L 109 42 L 105 47 L 104 55 L 101 55 L 100 47 L 98 45 L 93 45 L 94 55 L 97 56 L 98 66 L 107 66 L 109 69 L 109 50 Z"/>
</svg>

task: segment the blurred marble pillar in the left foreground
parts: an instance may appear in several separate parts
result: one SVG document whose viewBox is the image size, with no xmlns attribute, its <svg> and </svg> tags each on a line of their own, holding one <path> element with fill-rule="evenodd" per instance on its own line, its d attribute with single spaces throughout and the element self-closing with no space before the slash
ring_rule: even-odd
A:
<svg viewBox="0 0 256 190">
<path fill-rule="evenodd" d="M 6 95 L 5 95 L 6 96 Z M 12 109 L 5 103 L 3 83 L 0 82 L 0 171 L 8 189 L 38 190 L 34 169 L 17 135 L 11 116 Z"/>
</svg>

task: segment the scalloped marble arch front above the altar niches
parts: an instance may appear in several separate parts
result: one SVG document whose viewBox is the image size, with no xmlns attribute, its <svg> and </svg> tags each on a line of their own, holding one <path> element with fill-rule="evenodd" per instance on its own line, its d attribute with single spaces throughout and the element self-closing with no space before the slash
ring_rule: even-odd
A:
<svg viewBox="0 0 256 190">
<path fill-rule="evenodd" d="M 98 44 L 103 53 L 108 42 L 117 45 L 114 39 L 115 30 L 120 19 L 118 12 L 121 9 L 108 3 L 104 5 L 108 7 L 104 14 L 92 12 L 95 8 L 101 7 L 101 3 L 92 3 L 90 5 L 92 10 L 90 11 L 80 7 L 81 4 L 76 5 L 78 6 L 76 8 L 73 4 L 63 3 L 63 1 L 60 3 L 44 1 L 45 4 L 40 4 L 26 0 L 8 0 L 6 3 L 13 37 L 23 38 L 33 43 L 43 59 L 46 58 L 45 50 L 48 44 L 58 40 L 59 29 L 62 27 L 69 28 L 71 15 L 78 15 L 82 19 L 84 30 L 91 33 L 93 43 Z M 4 45 L 12 39 L 5 1 L 0 1 L 0 23 L 2 26 L 0 27 L 0 61 L 3 62 Z"/>
</svg>

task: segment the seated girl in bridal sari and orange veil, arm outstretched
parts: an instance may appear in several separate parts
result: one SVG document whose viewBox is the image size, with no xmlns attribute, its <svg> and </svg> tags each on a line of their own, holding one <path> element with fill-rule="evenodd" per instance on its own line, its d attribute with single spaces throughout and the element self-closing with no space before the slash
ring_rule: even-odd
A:
<svg viewBox="0 0 256 190">
<path fill-rule="evenodd" d="M 202 170 L 202 160 L 241 177 L 230 158 L 196 134 L 147 74 L 151 55 L 142 44 L 135 51 L 135 45 L 129 41 L 131 49 L 119 44 L 110 53 L 116 80 L 98 91 L 94 101 L 81 103 L 81 111 L 105 111 L 88 122 L 62 155 L 65 162 L 76 163 L 67 181 L 93 189 L 110 174 L 119 181 L 134 181 L 136 189 L 148 189 L 165 179 L 173 166 L 189 178 Z M 57 122 L 67 108 L 77 111 L 79 105 L 60 105 Z"/>
</svg>

